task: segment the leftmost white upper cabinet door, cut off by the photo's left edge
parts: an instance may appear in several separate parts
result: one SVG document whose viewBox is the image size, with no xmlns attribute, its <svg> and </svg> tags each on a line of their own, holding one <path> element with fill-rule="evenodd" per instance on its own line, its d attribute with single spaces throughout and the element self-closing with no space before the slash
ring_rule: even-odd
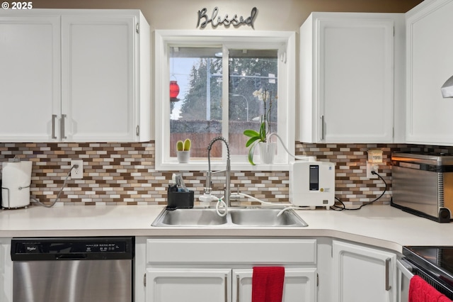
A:
<svg viewBox="0 0 453 302">
<path fill-rule="evenodd" d="M 0 14 L 0 141 L 59 137 L 59 48 L 59 17 Z"/>
</svg>

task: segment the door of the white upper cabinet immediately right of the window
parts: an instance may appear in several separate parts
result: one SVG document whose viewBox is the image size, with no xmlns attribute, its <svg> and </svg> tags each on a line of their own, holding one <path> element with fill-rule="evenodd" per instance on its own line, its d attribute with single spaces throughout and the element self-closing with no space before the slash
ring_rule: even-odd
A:
<svg viewBox="0 0 453 302">
<path fill-rule="evenodd" d="M 326 142 L 391 142 L 393 22 L 321 21 L 319 31 Z"/>
</svg>

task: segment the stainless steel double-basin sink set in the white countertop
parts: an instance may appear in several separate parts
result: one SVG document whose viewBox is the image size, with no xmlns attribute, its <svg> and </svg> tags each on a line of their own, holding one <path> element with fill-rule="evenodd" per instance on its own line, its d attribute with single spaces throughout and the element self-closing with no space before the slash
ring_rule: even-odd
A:
<svg viewBox="0 0 453 302">
<path fill-rule="evenodd" d="M 223 211 L 223 209 L 221 209 Z M 219 216 L 215 208 L 164 209 L 151 224 L 156 227 L 306 227 L 306 222 L 292 209 L 277 214 L 282 208 L 229 208 Z"/>
</svg>

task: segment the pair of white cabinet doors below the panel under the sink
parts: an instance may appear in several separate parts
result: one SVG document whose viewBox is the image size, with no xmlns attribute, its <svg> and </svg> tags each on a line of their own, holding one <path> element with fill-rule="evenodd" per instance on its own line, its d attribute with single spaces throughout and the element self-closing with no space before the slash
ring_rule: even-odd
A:
<svg viewBox="0 0 453 302">
<path fill-rule="evenodd" d="M 253 269 L 147 269 L 147 302 L 251 302 Z M 286 268 L 283 302 L 316 301 L 316 268 Z"/>
</svg>

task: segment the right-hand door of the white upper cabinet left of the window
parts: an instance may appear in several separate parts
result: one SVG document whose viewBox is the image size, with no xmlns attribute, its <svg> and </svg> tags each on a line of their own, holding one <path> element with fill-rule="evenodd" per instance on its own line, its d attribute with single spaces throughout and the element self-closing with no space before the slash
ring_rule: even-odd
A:
<svg viewBox="0 0 453 302">
<path fill-rule="evenodd" d="M 134 141 L 135 19 L 62 16 L 63 140 Z"/>
</svg>

